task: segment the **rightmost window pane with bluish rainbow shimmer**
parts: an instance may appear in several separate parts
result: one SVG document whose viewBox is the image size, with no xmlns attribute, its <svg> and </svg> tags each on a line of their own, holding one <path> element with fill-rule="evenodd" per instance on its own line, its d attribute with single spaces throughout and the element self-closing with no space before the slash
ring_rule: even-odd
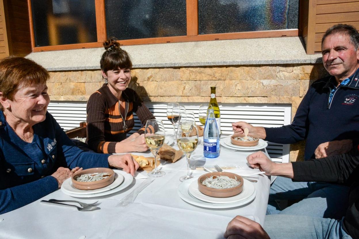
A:
<svg viewBox="0 0 359 239">
<path fill-rule="evenodd" d="M 299 0 L 198 0 L 199 34 L 298 28 Z"/>
</svg>

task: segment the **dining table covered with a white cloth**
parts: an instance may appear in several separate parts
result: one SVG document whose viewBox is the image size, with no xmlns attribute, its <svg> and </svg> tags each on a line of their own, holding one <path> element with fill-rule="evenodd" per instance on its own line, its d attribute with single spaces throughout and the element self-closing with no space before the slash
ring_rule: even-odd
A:
<svg viewBox="0 0 359 239">
<path fill-rule="evenodd" d="M 225 135 L 222 137 L 221 140 L 224 140 Z M 219 157 L 205 158 L 202 141 L 203 137 L 200 137 L 199 145 L 190 157 L 191 175 L 197 178 L 207 173 L 202 166 L 213 168 L 215 164 L 224 168 L 224 171 L 239 175 L 255 175 L 258 177 L 256 183 L 244 180 L 244 185 L 253 186 L 255 189 L 253 200 L 231 208 L 202 207 L 186 202 L 178 192 L 181 184 L 186 183 L 179 180 L 187 173 L 186 157 L 183 155 L 174 163 L 160 160 L 159 168 L 165 175 L 154 178 L 135 200 L 126 206 L 122 206 L 120 201 L 148 178 L 147 171 L 137 171 L 128 187 L 105 196 L 92 194 L 91 197 L 71 197 L 59 189 L 17 210 L 4 213 L 0 215 L 0 238 L 220 239 L 223 238 L 229 221 L 237 215 L 248 217 L 263 225 L 271 180 L 268 176 L 260 174 L 258 169 L 248 166 L 246 157 L 256 150 L 241 151 L 221 146 Z M 178 150 L 173 139 L 168 143 Z M 265 148 L 261 150 L 266 153 Z M 152 156 L 150 151 L 133 154 Z M 101 204 L 92 211 L 78 211 L 73 207 L 40 202 L 49 199 L 72 199 L 85 203 L 98 201 Z"/>
</svg>

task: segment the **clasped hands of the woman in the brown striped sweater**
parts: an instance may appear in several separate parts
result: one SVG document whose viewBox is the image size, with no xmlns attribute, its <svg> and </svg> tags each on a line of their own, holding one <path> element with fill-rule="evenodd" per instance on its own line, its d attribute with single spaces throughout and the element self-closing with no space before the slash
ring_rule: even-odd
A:
<svg viewBox="0 0 359 239">
<path fill-rule="evenodd" d="M 127 139 L 118 142 L 115 147 L 116 153 L 144 152 L 148 147 L 145 141 L 145 134 L 133 133 Z"/>
</svg>

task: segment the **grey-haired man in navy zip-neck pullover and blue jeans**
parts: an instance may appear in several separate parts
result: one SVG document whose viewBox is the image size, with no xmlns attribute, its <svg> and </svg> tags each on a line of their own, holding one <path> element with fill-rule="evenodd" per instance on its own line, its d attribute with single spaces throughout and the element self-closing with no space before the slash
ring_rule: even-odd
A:
<svg viewBox="0 0 359 239">
<path fill-rule="evenodd" d="M 306 139 L 305 159 L 350 151 L 359 133 L 359 33 L 337 24 L 322 40 L 323 65 L 330 77 L 312 84 L 303 97 L 293 123 L 279 128 L 233 123 L 233 131 L 248 128 L 251 135 L 276 143 Z M 347 208 L 348 187 L 327 183 L 294 183 L 278 177 L 271 186 L 268 214 L 294 214 L 341 218 Z M 276 199 L 303 199 L 280 210 Z M 338 204 L 337 202 L 341 202 Z"/>
</svg>

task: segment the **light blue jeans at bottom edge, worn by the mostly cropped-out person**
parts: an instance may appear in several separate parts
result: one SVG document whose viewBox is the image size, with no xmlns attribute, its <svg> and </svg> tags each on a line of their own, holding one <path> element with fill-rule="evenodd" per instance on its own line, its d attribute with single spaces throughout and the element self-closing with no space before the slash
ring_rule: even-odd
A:
<svg viewBox="0 0 359 239">
<path fill-rule="evenodd" d="M 267 215 L 264 230 L 271 239 L 351 239 L 342 228 L 342 220 L 320 217 Z"/>
</svg>

